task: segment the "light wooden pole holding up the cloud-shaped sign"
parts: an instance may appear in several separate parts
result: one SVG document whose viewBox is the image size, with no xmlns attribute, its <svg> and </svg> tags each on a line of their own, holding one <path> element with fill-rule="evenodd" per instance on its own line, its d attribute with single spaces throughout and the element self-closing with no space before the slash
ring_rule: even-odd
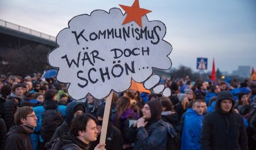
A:
<svg viewBox="0 0 256 150">
<path fill-rule="evenodd" d="M 109 113 L 110 113 L 110 107 L 111 107 L 111 102 L 112 102 L 112 96 L 113 96 L 113 91 L 111 91 L 111 93 L 106 98 L 106 105 L 105 105 L 105 109 L 104 109 L 100 143 L 105 143 L 105 141 L 106 141 L 106 132 L 108 130 Z M 101 148 L 104 148 L 104 147 L 101 147 Z"/>
</svg>

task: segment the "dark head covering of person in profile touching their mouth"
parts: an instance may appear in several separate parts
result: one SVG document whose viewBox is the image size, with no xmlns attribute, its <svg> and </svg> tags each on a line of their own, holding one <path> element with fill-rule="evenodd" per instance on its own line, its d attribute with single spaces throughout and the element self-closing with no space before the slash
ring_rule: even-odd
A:
<svg viewBox="0 0 256 150">
<path fill-rule="evenodd" d="M 161 119 L 162 104 L 158 99 L 152 99 L 146 103 L 150 107 L 151 118 L 148 123 L 154 123 Z"/>
</svg>

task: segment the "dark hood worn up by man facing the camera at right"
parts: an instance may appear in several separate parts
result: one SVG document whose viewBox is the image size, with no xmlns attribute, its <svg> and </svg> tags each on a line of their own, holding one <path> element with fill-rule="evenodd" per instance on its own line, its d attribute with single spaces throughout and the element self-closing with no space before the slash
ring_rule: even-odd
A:
<svg viewBox="0 0 256 150">
<path fill-rule="evenodd" d="M 221 101 L 223 101 L 224 99 L 229 99 L 230 101 L 232 101 L 232 108 L 234 107 L 234 104 L 235 104 L 234 98 L 232 94 L 229 93 L 229 91 L 221 91 L 220 93 L 218 93 L 216 98 L 216 111 L 220 113 L 225 113 L 224 111 L 221 110 L 221 107 L 220 107 Z M 232 112 L 232 109 L 229 111 L 229 113 L 231 112 Z"/>
</svg>

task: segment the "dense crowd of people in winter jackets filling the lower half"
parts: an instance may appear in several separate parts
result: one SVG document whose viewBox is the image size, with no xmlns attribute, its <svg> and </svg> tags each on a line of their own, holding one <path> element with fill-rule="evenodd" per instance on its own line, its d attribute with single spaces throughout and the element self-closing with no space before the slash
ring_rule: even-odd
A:
<svg viewBox="0 0 256 150">
<path fill-rule="evenodd" d="M 256 149 L 256 82 L 162 78 L 171 96 L 113 93 L 79 101 L 42 74 L 0 78 L 0 149 Z"/>
</svg>

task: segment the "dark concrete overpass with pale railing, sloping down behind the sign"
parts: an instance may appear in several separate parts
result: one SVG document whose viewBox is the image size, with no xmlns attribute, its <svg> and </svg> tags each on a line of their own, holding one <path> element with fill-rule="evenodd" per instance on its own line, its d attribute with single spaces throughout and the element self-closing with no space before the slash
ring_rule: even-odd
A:
<svg viewBox="0 0 256 150">
<path fill-rule="evenodd" d="M 5 58 L 5 54 L 12 49 L 23 45 L 45 45 L 53 49 L 57 47 L 55 40 L 51 35 L 0 19 L 0 65 L 5 63 L 1 58 Z M 170 73 L 163 70 L 154 69 L 154 73 L 170 77 Z"/>
</svg>

